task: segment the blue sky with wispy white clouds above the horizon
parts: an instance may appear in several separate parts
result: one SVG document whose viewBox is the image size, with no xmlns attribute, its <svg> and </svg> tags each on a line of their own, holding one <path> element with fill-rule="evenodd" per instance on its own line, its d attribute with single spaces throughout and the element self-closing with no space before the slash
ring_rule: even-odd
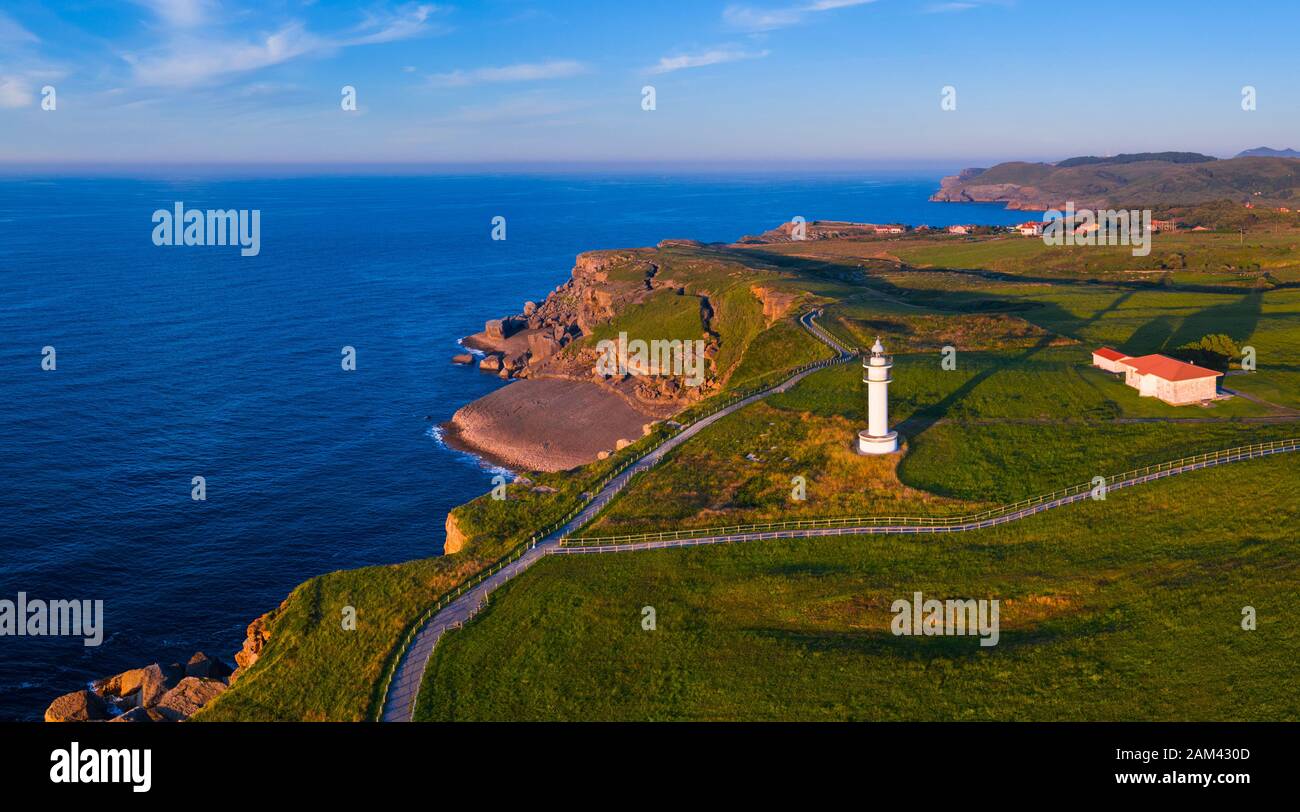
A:
<svg viewBox="0 0 1300 812">
<path fill-rule="evenodd" d="M 1230 156 L 1300 147 L 1297 22 L 1283 1 L 9 0 L 0 161 Z"/>
</svg>

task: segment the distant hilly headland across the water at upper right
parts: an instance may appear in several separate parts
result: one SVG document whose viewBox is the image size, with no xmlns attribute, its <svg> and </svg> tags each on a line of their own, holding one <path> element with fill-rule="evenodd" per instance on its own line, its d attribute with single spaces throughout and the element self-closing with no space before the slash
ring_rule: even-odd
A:
<svg viewBox="0 0 1300 812">
<path fill-rule="evenodd" d="M 1005 203 L 1011 209 L 1063 208 L 1069 201 L 1079 208 L 1210 200 L 1294 207 L 1300 201 L 1300 161 L 1271 156 L 1214 160 L 1192 152 L 1070 159 L 1060 164 L 1010 161 L 944 178 L 931 200 Z"/>
</svg>

